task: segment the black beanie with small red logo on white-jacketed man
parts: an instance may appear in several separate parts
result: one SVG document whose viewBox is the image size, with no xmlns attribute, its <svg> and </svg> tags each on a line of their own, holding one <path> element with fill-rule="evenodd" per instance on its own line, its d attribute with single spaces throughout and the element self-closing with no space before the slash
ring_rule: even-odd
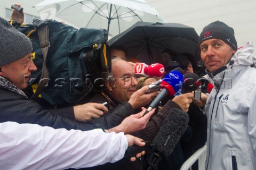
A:
<svg viewBox="0 0 256 170">
<path fill-rule="evenodd" d="M 231 46 L 234 50 L 237 50 L 237 43 L 235 38 L 234 29 L 228 27 L 227 24 L 221 21 L 215 21 L 204 27 L 203 31 L 201 32 L 198 45 L 208 39 L 221 39 L 225 41 L 229 46 Z"/>
</svg>

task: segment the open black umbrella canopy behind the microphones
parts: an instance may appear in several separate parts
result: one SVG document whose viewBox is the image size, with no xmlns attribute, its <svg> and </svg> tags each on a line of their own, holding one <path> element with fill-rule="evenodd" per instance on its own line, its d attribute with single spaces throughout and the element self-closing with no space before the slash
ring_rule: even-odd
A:
<svg viewBox="0 0 256 170">
<path fill-rule="evenodd" d="M 147 64 L 155 63 L 165 49 L 188 53 L 199 61 L 198 35 L 194 28 L 179 23 L 137 22 L 113 37 L 109 45 L 127 49 L 128 57 L 135 57 Z"/>
</svg>

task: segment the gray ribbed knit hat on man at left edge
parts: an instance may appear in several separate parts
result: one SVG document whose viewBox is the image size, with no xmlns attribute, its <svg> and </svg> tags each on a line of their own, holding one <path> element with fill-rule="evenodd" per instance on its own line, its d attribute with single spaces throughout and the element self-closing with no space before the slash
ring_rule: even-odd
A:
<svg viewBox="0 0 256 170">
<path fill-rule="evenodd" d="M 23 33 L 0 17 L 0 66 L 12 63 L 32 52 L 32 44 Z"/>
</svg>

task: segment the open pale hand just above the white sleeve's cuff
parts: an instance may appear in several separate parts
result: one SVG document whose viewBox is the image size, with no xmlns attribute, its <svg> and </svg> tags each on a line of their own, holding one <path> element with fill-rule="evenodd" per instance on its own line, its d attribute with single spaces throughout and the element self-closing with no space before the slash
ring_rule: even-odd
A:
<svg viewBox="0 0 256 170">
<path fill-rule="evenodd" d="M 109 129 L 109 132 L 124 132 L 125 134 L 130 134 L 137 132 L 139 130 L 145 129 L 146 125 L 149 121 L 149 118 L 153 115 L 155 112 L 155 108 L 152 109 L 152 111 L 148 112 L 145 116 L 143 114 L 146 112 L 146 108 L 142 107 L 142 111 L 137 114 L 130 115 L 126 117 L 121 124 L 118 126 Z"/>
</svg>

